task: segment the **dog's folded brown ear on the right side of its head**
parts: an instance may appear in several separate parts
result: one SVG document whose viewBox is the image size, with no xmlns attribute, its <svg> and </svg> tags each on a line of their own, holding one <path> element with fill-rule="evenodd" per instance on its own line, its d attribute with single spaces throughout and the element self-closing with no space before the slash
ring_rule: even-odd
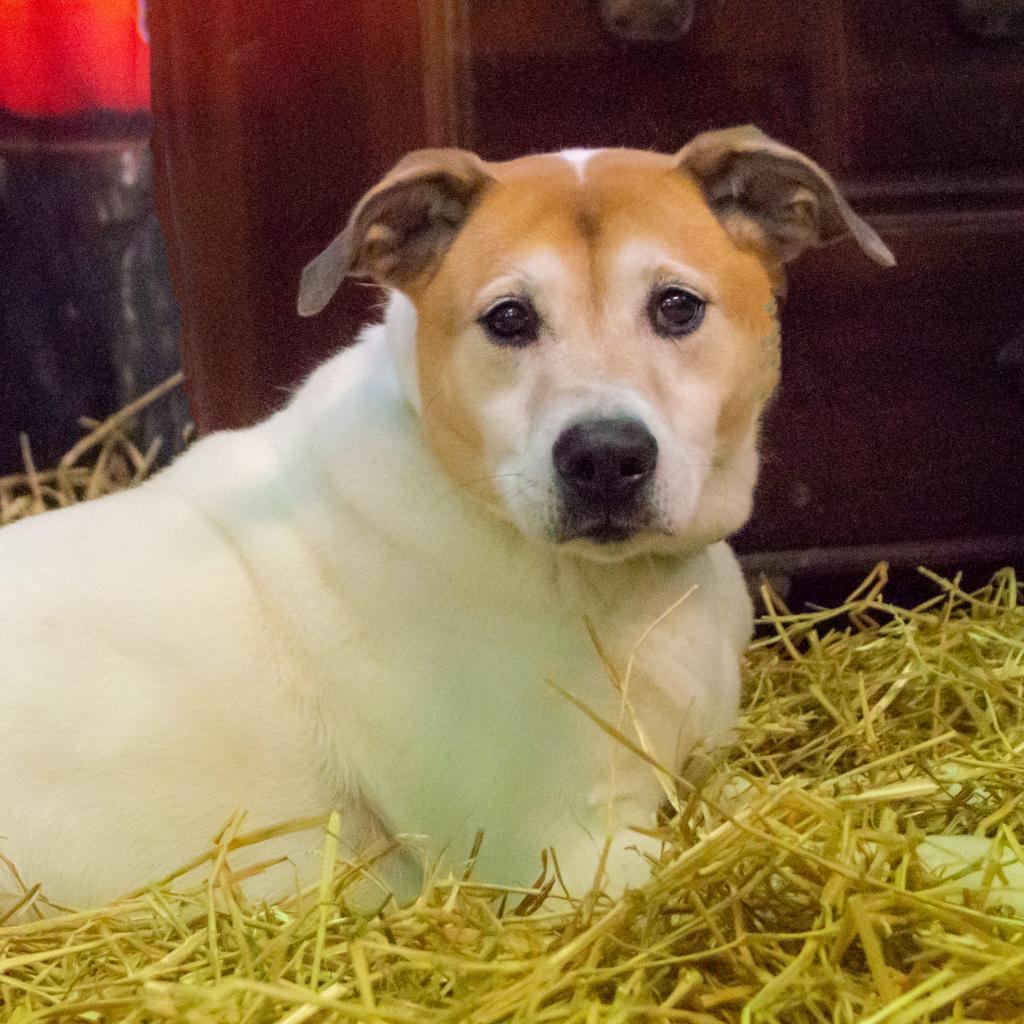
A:
<svg viewBox="0 0 1024 1024">
<path fill-rule="evenodd" d="M 725 229 L 779 263 L 847 234 L 877 263 L 896 263 L 822 168 L 754 125 L 703 132 L 677 159 L 696 179 Z"/>
</svg>

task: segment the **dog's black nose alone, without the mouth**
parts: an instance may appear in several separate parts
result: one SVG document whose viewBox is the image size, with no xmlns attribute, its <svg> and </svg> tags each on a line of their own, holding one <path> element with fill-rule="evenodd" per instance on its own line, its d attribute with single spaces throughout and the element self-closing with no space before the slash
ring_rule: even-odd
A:
<svg viewBox="0 0 1024 1024">
<path fill-rule="evenodd" d="M 615 509 L 653 476 L 657 441 L 639 420 L 589 420 L 563 430 L 552 456 L 559 482 L 573 500 Z"/>
</svg>

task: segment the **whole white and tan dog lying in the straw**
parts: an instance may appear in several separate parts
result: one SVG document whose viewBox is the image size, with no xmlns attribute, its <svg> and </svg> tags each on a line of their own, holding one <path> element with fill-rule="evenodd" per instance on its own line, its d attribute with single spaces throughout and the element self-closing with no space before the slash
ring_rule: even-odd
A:
<svg viewBox="0 0 1024 1024">
<path fill-rule="evenodd" d="M 238 809 L 338 809 L 349 848 L 412 835 L 431 863 L 482 829 L 484 881 L 528 885 L 553 847 L 582 893 L 606 837 L 610 884 L 641 880 L 655 772 L 549 684 L 673 768 L 727 737 L 751 606 L 721 542 L 751 509 L 774 295 L 847 233 L 892 262 L 755 129 L 403 160 L 299 298 L 369 275 L 382 325 L 265 422 L 0 531 L 0 853 L 95 904 Z M 591 628 L 633 658 L 632 714 Z M 289 857 L 249 882 L 275 895 L 318 842 L 232 864 Z M 411 863 L 384 868 L 403 897 Z"/>
</svg>

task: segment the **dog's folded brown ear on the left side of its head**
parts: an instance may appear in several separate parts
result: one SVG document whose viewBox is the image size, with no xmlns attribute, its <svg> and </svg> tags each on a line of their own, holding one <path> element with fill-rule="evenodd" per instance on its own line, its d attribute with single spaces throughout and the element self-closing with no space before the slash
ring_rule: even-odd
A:
<svg viewBox="0 0 1024 1024">
<path fill-rule="evenodd" d="M 306 264 L 300 316 L 318 313 L 342 280 L 403 288 L 436 266 L 494 180 L 465 150 L 418 150 L 359 200 L 342 232 Z"/>
</svg>

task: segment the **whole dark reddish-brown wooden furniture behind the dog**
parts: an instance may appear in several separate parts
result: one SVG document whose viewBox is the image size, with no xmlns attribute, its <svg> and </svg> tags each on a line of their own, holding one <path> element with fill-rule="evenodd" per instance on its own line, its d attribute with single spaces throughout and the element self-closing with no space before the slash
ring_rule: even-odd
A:
<svg viewBox="0 0 1024 1024">
<path fill-rule="evenodd" d="M 157 203 L 199 427 L 279 406 L 372 315 L 347 285 L 301 321 L 298 275 L 408 150 L 671 151 L 755 122 L 835 172 L 899 265 L 844 245 L 794 270 L 750 563 L 1024 559 L 1024 47 L 978 6 L 696 0 L 683 38 L 641 45 L 596 0 L 157 0 Z"/>
</svg>

